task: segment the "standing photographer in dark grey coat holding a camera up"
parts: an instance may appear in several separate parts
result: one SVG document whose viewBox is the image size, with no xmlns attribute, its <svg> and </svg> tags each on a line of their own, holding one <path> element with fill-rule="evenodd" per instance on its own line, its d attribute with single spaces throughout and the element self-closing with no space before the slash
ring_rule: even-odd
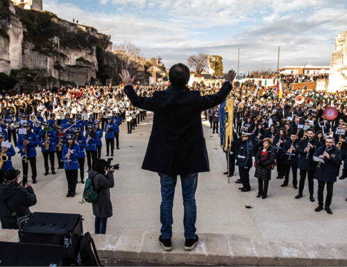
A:
<svg viewBox="0 0 347 267">
<path fill-rule="evenodd" d="M 100 159 L 95 160 L 92 170 L 88 172 L 88 178 L 92 180 L 93 187 L 99 195 L 92 203 L 95 216 L 95 234 L 106 233 L 108 218 L 112 216 L 110 188 L 115 186 L 113 173 L 117 168 L 118 165 L 110 165 L 110 160 Z"/>
</svg>

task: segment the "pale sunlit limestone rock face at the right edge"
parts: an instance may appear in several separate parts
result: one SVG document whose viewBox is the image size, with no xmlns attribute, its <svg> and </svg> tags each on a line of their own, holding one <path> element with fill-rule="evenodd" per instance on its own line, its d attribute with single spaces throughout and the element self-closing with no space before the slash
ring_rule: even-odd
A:
<svg viewBox="0 0 347 267">
<path fill-rule="evenodd" d="M 329 74 L 329 92 L 347 90 L 347 31 L 335 37 Z"/>
</svg>

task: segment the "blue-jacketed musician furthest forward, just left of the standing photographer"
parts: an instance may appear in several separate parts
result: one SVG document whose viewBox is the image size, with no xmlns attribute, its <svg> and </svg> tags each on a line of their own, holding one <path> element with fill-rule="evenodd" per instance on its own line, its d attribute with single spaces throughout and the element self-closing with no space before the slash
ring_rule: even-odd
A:
<svg viewBox="0 0 347 267">
<path fill-rule="evenodd" d="M 67 198 L 73 198 L 76 195 L 78 153 L 80 153 L 80 146 L 75 141 L 75 135 L 67 135 L 67 144 L 62 148 L 62 160 L 67 178 Z"/>
</svg>

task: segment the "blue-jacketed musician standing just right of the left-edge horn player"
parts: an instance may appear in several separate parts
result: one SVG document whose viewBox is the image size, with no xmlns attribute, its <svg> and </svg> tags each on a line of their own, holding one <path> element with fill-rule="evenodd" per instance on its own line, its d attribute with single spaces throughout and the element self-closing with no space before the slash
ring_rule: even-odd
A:
<svg viewBox="0 0 347 267">
<path fill-rule="evenodd" d="M 36 184 L 36 146 L 39 144 L 37 135 L 35 132 L 31 132 L 30 123 L 22 123 L 22 128 L 26 129 L 26 135 L 19 135 L 17 141 L 17 147 L 21 151 L 22 166 L 23 166 L 23 181 L 26 183 L 28 180 L 28 162 L 31 166 L 31 178 L 33 184 Z"/>
</svg>

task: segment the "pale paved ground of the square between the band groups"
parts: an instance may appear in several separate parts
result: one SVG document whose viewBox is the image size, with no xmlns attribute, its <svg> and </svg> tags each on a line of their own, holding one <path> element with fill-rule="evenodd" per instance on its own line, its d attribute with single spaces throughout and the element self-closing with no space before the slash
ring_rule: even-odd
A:
<svg viewBox="0 0 347 267">
<path fill-rule="evenodd" d="M 120 170 L 115 172 L 115 188 L 112 189 L 114 216 L 108 220 L 108 234 L 124 230 L 158 231 L 160 229 L 159 206 L 160 184 L 158 175 L 141 169 L 149 134 L 152 114 L 136 130 L 128 135 L 126 124 L 121 126 L 120 150 L 115 150 L 115 160 Z M 208 126 L 208 123 L 203 123 Z M 253 241 L 300 241 L 305 243 L 346 243 L 347 182 L 335 184 L 332 199 L 333 215 L 314 212 L 316 203 L 308 199 L 307 185 L 304 198 L 294 199 L 297 190 L 280 187 L 282 180 L 271 180 L 268 198 L 255 198 L 257 180 L 251 170 L 252 191 L 241 193 L 235 177 L 223 175 L 226 171 L 225 155 L 219 148 L 217 135 L 204 127 L 210 157 L 210 173 L 201 173 L 198 180 L 196 200 L 198 232 L 214 234 L 241 234 Z M 83 184 L 78 183 L 77 196 L 66 198 L 67 181 L 63 170 L 56 175 L 44 176 L 42 153 L 37 148 L 38 183 L 34 184 L 37 194 L 35 212 L 66 212 L 83 214 L 85 231 L 94 232 L 92 205 L 80 204 Z M 103 148 L 103 156 L 105 149 Z M 19 154 L 13 159 L 16 168 L 22 169 Z M 87 168 L 85 168 L 87 169 Z M 30 173 L 30 171 L 29 171 Z M 273 173 L 273 177 L 275 174 Z M 30 176 L 29 176 L 30 177 Z M 276 177 L 276 176 L 275 176 Z M 29 179 L 30 181 L 30 179 Z M 183 202 L 180 182 L 177 184 L 174 202 L 174 225 L 176 233 L 183 232 Z M 315 182 L 315 197 L 316 197 Z M 246 205 L 253 207 L 246 209 Z"/>
</svg>

